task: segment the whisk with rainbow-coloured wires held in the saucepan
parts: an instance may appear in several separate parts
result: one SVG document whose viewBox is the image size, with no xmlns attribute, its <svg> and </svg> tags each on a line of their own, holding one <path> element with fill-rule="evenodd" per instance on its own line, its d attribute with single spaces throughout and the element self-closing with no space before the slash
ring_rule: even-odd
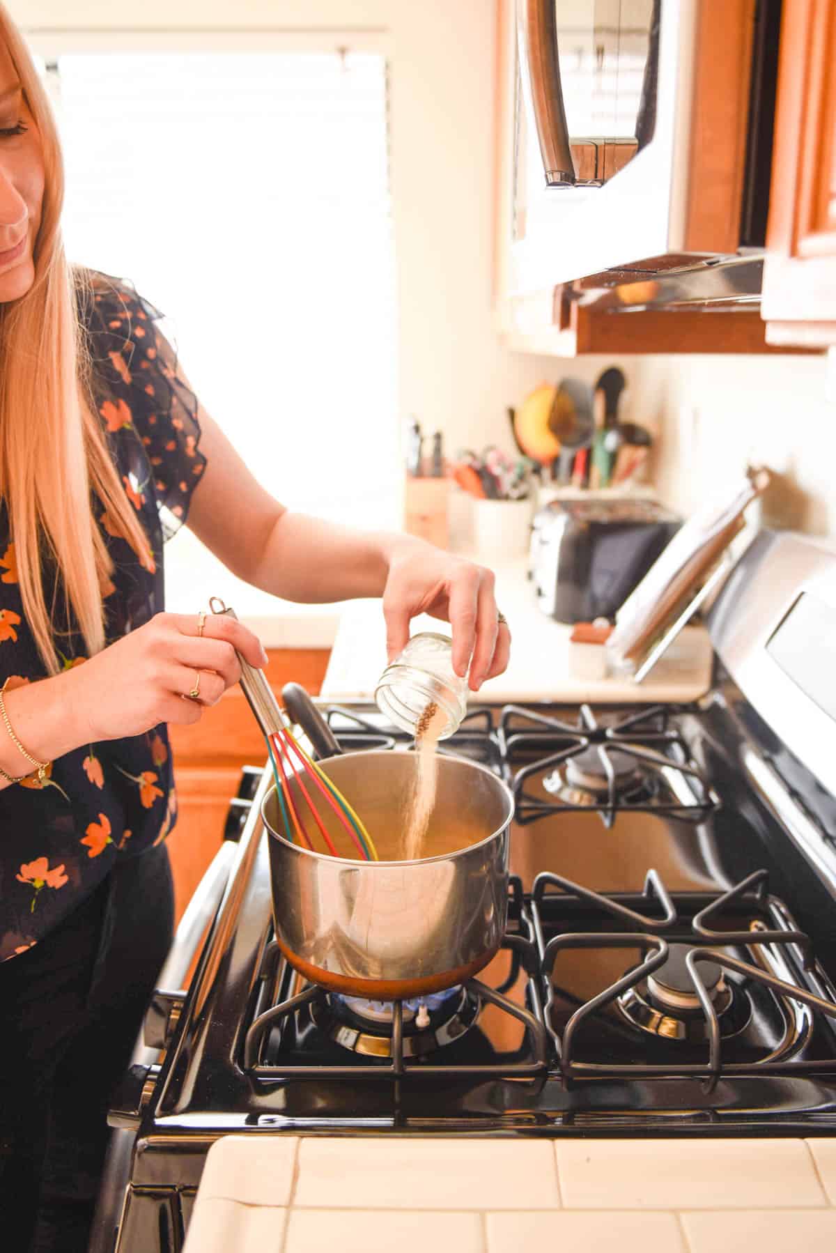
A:
<svg viewBox="0 0 836 1253">
<path fill-rule="evenodd" d="M 234 610 L 224 605 L 223 600 L 218 596 L 213 596 L 209 600 L 209 608 L 213 614 L 224 614 L 227 618 L 237 619 Z M 291 843 L 303 845 L 306 848 L 313 851 L 313 841 L 305 823 L 302 804 L 293 799 L 293 792 L 291 791 L 291 781 L 296 781 L 327 851 L 332 857 L 340 856 L 311 798 L 311 792 L 306 786 L 307 778 L 313 789 L 331 807 L 337 821 L 351 837 L 360 856 L 365 861 L 379 861 L 375 843 L 362 821 L 325 771 L 305 752 L 291 730 L 290 723 L 276 700 L 263 670 L 257 670 L 249 665 L 241 654 L 238 654 L 238 660 L 241 663 L 241 687 L 267 741 L 267 752 L 269 753 L 273 777 L 276 779 L 276 798 L 287 840 Z"/>
</svg>

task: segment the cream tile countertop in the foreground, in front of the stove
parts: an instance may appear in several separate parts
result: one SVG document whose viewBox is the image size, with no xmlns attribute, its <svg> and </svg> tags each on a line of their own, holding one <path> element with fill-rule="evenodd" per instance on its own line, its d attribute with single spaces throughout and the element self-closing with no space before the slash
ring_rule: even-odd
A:
<svg viewBox="0 0 836 1253">
<path fill-rule="evenodd" d="M 833 1139 L 229 1135 L 184 1253 L 836 1248 Z"/>
</svg>

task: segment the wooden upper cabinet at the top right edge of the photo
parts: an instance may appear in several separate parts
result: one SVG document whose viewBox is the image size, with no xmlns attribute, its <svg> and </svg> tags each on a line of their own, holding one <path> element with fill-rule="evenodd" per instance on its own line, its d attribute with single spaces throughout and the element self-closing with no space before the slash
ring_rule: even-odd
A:
<svg viewBox="0 0 836 1253">
<path fill-rule="evenodd" d="M 836 0 L 785 0 L 761 309 L 771 343 L 836 345 Z"/>
</svg>

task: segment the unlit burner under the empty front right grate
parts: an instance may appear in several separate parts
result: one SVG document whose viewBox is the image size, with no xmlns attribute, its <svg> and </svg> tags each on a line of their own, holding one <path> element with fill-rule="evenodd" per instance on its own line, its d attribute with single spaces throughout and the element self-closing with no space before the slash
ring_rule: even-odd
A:
<svg viewBox="0 0 836 1253">
<path fill-rule="evenodd" d="M 669 945 L 666 964 L 618 997 L 618 1007 L 633 1026 L 666 1040 L 706 1039 L 706 1016 L 686 965 L 691 950 L 687 944 Z M 714 962 L 701 962 L 699 976 L 717 1011 L 721 1035 L 737 1035 L 751 1016 L 746 992 L 727 982 Z"/>
</svg>

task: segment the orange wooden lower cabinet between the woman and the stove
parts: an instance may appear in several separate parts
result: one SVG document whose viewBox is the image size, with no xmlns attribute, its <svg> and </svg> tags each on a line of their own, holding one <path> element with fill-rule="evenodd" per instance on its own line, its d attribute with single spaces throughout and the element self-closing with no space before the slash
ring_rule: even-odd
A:
<svg viewBox="0 0 836 1253">
<path fill-rule="evenodd" d="M 312 695 L 322 687 L 328 649 L 272 649 L 267 677 L 274 692 L 301 683 Z M 243 766 L 261 766 L 264 741 L 243 692 L 236 684 L 194 727 L 172 727 L 174 784 L 179 814 L 168 838 L 177 918 L 214 857 Z"/>
</svg>

